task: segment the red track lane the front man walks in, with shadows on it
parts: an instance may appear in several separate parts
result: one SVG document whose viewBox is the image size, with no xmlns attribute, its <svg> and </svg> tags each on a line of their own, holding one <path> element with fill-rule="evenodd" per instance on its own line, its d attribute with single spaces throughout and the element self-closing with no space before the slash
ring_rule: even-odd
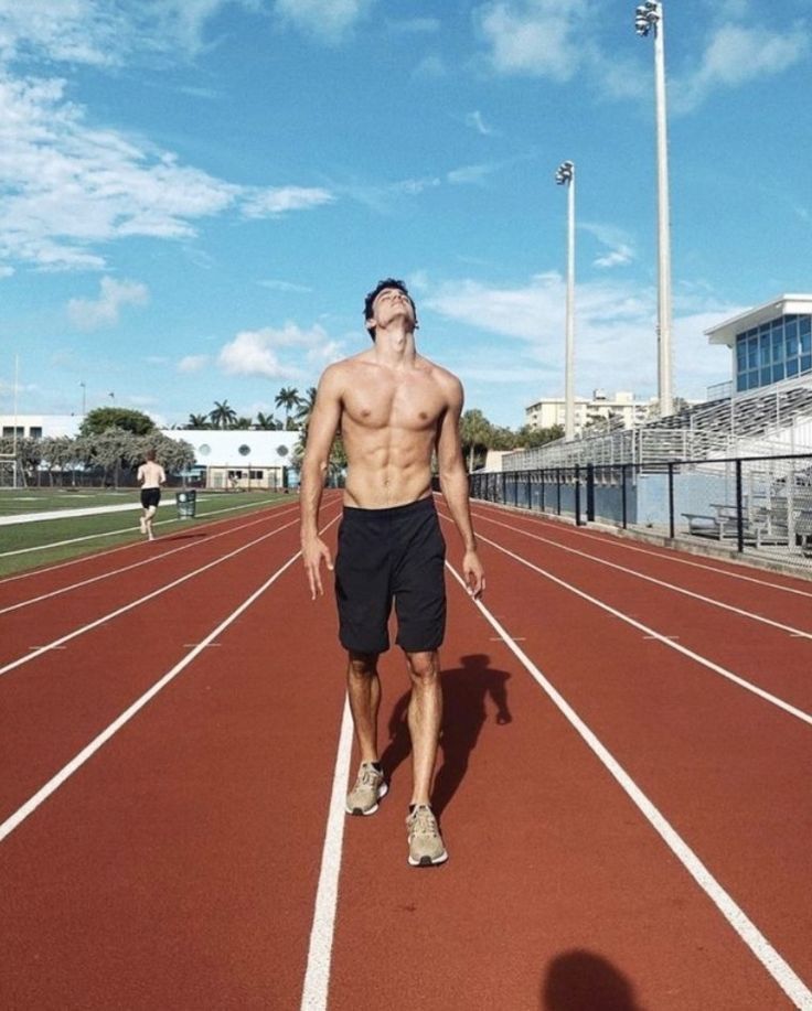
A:
<svg viewBox="0 0 812 1011">
<path fill-rule="evenodd" d="M 526 600 L 526 577 L 483 553 L 489 598 L 510 582 Z M 406 863 L 407 686 L 393 656 L 394 775 L 378 814 L 346 824 L 331 1011 L 357 1007 L 370 953 L 375 1008 L 537 1009 L 573 951 L 583 971 L 602 967 L 590 996 L 607 1007 L 621 993 L 618 1005 L 658 1011 L 791 1007 L 459 588 L 449 611 L 435 793 L 450 859 Z"/>
</svg>

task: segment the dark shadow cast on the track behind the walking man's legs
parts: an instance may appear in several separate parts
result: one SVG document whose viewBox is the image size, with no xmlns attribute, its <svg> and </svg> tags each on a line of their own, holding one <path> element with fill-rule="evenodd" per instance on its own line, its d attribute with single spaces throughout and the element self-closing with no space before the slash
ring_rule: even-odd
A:
<svg viewBox="0 0 812 1011">
<path fill-rule="evenodd" d="M 491 658 L 477 653 L 460 657 L 461 667 L 444 670 L 442 725 L 440 752 L 442 764 L 435 778 L 431 806 L 439 816 L 457 793 L 468 771 L 471 752 L 477 746 L 480 731 L 488 719 L 490 699 L 499 725 L 512 722 L 507 708 L 506 682 L 510 674 L 490 667 Z M 387 778 L 406 761 L 412 751 L 408 729 L 410 691 L 395 703 L 389 718 L 389 743 L 381 756 Z"/>
</svg>

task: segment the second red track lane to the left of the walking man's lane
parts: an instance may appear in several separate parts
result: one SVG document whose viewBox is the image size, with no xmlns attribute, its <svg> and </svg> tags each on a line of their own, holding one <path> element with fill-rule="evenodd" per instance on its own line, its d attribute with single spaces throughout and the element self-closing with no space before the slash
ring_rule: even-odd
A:
<svg viewBox="0 0 812 1011">
<path fill-rule="evenodd" d="M 216 580 L 209 570 L 151 600 L 130 573 L 137 606 L 0 677 L 0 819 L 146 691 L 156 671 L 188 656 L 232 601 L 253 592 L 297 550 L 298 528 L 288 526 L 217 566 Z"/>
</svg>

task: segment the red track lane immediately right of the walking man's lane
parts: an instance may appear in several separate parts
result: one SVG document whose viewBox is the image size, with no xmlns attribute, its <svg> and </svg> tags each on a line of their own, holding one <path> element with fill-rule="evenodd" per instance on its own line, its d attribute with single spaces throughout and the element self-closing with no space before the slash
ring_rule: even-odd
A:
<svg viewBox="0 0 812 1011">
<path fill-rule="evenodd" d="M 489 580 L 489 599 L 509 631 L 811 979 L 809 728 L 610 614 L 573 606 L 555 583 L 530 585 L 507 569 L 510 580 Z"/>
</svg>

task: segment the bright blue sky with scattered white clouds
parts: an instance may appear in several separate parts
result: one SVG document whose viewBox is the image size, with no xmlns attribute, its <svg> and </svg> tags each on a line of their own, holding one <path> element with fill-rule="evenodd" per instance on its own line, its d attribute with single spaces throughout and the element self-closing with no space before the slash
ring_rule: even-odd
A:
<svg viewBox="0 0 812 1011">
<path fill-rule="evenodd" d="M 418 347 L 519 427 L 656 391 L 653 41 L 619 0 L 0 0 L 0 413 L 274 411 L 368 346 L 402 277 Z M 812 290 L 812 0 L 664 0 L 674 391 L 703 331 Z M 81 384 L 85 384 L 83 388 Z M 113 395 L 113 396 L 111 396 Z"/>
</svg>

